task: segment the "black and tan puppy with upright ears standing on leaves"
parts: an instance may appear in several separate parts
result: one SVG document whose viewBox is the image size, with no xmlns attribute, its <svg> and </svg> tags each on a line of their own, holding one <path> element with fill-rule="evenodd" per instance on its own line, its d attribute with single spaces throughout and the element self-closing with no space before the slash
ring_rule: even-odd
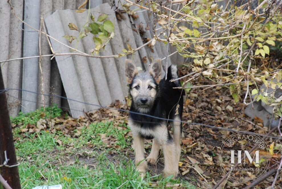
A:
<svg viewBox="0 0 282 189">
<path fill-rule="evenodd" d="M 126 79 L 130 83 L 129 92 L 132 96 L 128 124 L 135 145 L 136 169 L 140 172 L 146 171 L 147 162 L 156 164 L 162 146 L 165 176 L 178 174 L 183 94 L 181 90 L 173 89 L 181 86 L 179 81 L 170 82 L 171 79 L 176 78 L 178 78 L 177 68 L 171 65 L 168 68 L 167 80 L 165 78 L 161 80 L 160 59 L 152 63 L 149 72 L 140 73 L 132 61 L 126 60 Z M 167 129 L 169 121 L 158 118 L 173 120 L 171 121 L 173 138 Z M 152 150 L 146 161 L 144 139 L 153 139 Z"/>
</svg>

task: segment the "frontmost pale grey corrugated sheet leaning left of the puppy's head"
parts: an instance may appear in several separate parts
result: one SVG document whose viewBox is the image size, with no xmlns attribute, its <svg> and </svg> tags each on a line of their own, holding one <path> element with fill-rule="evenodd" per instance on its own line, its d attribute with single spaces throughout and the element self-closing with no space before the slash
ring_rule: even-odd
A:
<svg viewBox="0 0 282 189">
<path fill-rule="evenodd" d="M 100 9 L 102 7 L 102 9 Z M 111 11 L 109 4 L 103 4 L 90 9 L 91 14 L 97 18 L 101 12 Z M 113 11 L 111 11 L 113 12 Z M 87 22 L 88 11 L 75 13 L 72 10 L 56 11 L 45 19 L 49 35 L 79 51 L 90 53 L 95 48 L 92 40 L 93 35 L 88 33 L 86 37 L 74 40 L 71 44 L 62 36 L 73 35 L 78 37 L 79 32 L 70 30 L 69 23 L 74 23 L 79 30 Z M 115 38 L 105 46 L 99 55 L 114 55 L 122 52 L 122 39 L 118 30 L 117 19 L 114 15 L 108 17 L 115 25 Z M 88 19 L 89 20 L 89 19 Z M 115 41 L 116 40 L 116 41 Z M 51 39 L 54 51 L 60 53 L 73 52 L 67 47 Z M 83 105 L 79 102 L 68 100 L 71 114 L 74 118 L 82 115 L 82 110 L 89 111 L 99 108 L 90 104 L 109 105 L 115 100 L 125 102 L 126 79 L 125 79 L 125 57 L 118 59 L 106 58 L 96 59 L 84 56 L 57 56 L 56 61 L 68 98 L 86 102 Z M 52 81 L 52 80 L 51 80 Z M 77 110 L 77 111 L 75 111 Z"/>
</svg>

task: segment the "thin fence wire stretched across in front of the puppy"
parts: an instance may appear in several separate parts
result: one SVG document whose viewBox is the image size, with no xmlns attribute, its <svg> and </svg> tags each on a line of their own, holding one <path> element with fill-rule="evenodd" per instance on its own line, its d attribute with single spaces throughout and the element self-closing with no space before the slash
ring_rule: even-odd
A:
<svg viewBox="0 0 282 189">
<path fill-rule="evenodd" d="M 88 103 L 88 102 L 83 102 L 83 101 L 67 98 L 65 96 L 60 96 L 58 94 L 42 94 L 42 93 L 38 93 L 38 92 L 34 92 L 34 91 L 28 91 L 28 90 L 24 90 L 24 89 L 10 89 L 10 88 L 6 88 L 4 90 L 0 90 L 0 95 L 1 94 L 5 94 L 5 92 L 7 92 L 7 91 L 12 91 L 12 90 L 25 91 L 25 92 L 28 92 L 28 93 L 33 93 L 33 94 L 38 94 L 38 95 L 43 95 L 43 96 L 49 96 L 49 97 L 59 97 L 59 98 L 63 98 L 63 99 L 66 99 L 66 100 L 71 100 L 71 101 L 79 102 L 79 103 L 82 103 L 82 104 L 98 106 L 99 108 L 106 108 L 106 109 L 109 109 L 109 110 L 118 110 L 118 111 L 121 111 L 121 112 L 128 112 L 128 113 L 130 112 L 132 114 L 139 114 L 139 115 L 148 116 L 148 117 L 151 117 L 151 118 L 156 118 L 156 119 L 164 120 L 164 121 L 176 121 L 176 122 L 181 122 L 182 124 L 200 125 L 200 126 L 209 127 L 211 129 L 228 130 L 230 132 L 241 132 L 241 131 L 247 132 L 246 130 L 235 130 L 235 129 L 231 129 L 231 128 L 217 127 L 217 126 L 212 126 L 212 125 L 203 124 L 203 123 L 195 123 L 195 122 L 187 122 L 187 121 L 166 119 L 166 118 L 156 117 L 156 116 L 152 116 L 152 115 L 148 115 L 148 114 L 143 114 L 143 113 L 139 113 L 139 112 L 133 112 L 133 111 L 130 111 L 130 110 L 125 110 L 125 109 L 120 109 L 120 108 L 113 108 L 113 107 L 108 107 L 108 106 L 102 106 L 102 105 L 99 105 L 99 104 L 91 104 L 91 103 Z M 11 96 L 11 95 L 9 95 L 9 96 Z M 35 101 L 25 100 L 23 98 L 19 98 L 19 97 L 15 97 L 15 96 L 11 96 L 11 97 L 16 98 L 16 99 L 21 100 L 21 101 L 40 103 L 42 105 L 44 104 L 42 102 L 35 102 Z M 60 108 L 67 108 L 67 107 L 62 107 L 60 105 L 58 105 L 58 107 L 60 107 Z M 78 109 L 72 109 L 72 110 L 84 112 L 84 111 L 78 110 Z M 256 133 L 256 134 L 258 134 L 259 136 L 265 136 L 267 138 L 275 138 L 275 139 L 279 139 L 279 140 L 282 139 L 281 136 L 277 137 L 277 136 L 269 136 L 269 135 L 264 135 L 264 134 L 259 134 L 259 133 Z"/>
</svg>

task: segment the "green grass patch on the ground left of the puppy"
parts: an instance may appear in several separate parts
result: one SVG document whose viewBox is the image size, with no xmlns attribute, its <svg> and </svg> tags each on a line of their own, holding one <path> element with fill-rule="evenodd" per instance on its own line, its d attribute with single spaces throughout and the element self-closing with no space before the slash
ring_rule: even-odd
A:
<svg viewBox="0 0 282 189">
<path fill-rule="evenodd" d="M 55 110 L 55 111 L 54 111 Z M 12 122 L 24 125 L 40 119 L 43 109 L 21 114 Z M 49 116 L 61 116 L 54 109 Z M 46 113 L 47 115 L 47 113 Z M 22 121 L 22 122 L 21 122 Z M 76 130 L 74 130 L 76 132 Z M 132 138 L 126 124 L 115 122 L 91 123 L 81 128 L 79 135 L 70 136 L 56 130 L 54 133 L 41 130 L 38 133 L 23 133 L 13 129 L 19 174 L 22 188 L 40 185 L 62 184 L 63 188 L 172 188 L 181 183 L 181 188 L 195 188 L 185 180 L 172 180 L 161 175 L 144 178 L 134 170 L 135 166 L 126 151 L 132 152 Z M 114 144 L 107 146 L 101 137 L 109 137 Z M 62 141 L 59 145 L 57 140 Z M 89 147 L 91 146 L 91 147 Z M 115 149 L 115 146 L 119 148 Z M 109 155 L 110 150 L 117 154 Z M 77 155 L 82 158 L 77 158 Z M 88 160 L 89 158 L 89 160 Z"/>
</svg>

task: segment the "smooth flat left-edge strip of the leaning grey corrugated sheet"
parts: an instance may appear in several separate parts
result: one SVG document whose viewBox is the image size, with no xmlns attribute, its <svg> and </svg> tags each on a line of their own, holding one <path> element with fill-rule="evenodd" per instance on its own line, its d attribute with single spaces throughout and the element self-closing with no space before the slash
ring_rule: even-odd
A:
<svg viewBox="0 0 282 189">
<path fill-rule="evenodd" d="M 66 15 L 69 16 L 69 15 Z M 62 37 L 65 35 L 65 31 L 63 28 L 63 23 L 60 18 L 59 11 L 55 11 L 52 15 L 45 19 L 46 27 L 48 29 L 48 33 L 60 41 L 61 43 L 68 44 L 68 41 Z M 54 41 L 51 39 L 52 46 L 54 51 L 60 53 L 69 53 L 69 48 Z M 61 74 L 62 82 L 69 98 L 68 102 L 71 109 L 71 114 L 74 118 L 78 118 L 79 116 L 83 116 L 82 110 L 86 110 L 86 106 L 83 103 L 83 94 L 81 88 L 79 86 L 79 78 L 77 76 L 75 65 L 73 63 L 73 59 L 69 55 L 64 56 L 56 56 L 56 61 L 58 64 L 58 68 Z M 77 102 L 77 101 L 80 102 Z"/>
</svg>

